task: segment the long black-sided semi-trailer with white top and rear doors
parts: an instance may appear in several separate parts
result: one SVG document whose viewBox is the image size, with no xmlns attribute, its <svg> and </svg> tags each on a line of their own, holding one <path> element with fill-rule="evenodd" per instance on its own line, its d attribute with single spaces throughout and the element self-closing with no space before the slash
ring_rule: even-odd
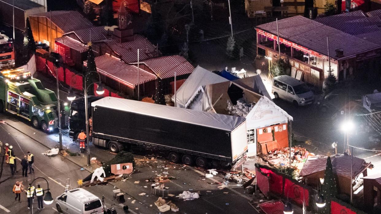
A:
<svg viewBox="0 0 381 214">
<path fill-rule="evenodd" d="M 247 151 L 244 117 L 105 97 L 91 103 L 93 144 L 159 150 L 171 162 L 234 167 Z"/>
</svg>

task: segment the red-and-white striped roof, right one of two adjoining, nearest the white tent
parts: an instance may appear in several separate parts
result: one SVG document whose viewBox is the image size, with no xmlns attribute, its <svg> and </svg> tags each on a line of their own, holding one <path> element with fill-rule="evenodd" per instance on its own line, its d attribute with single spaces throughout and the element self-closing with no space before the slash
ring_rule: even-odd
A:
<svg viewBox="0 0 381 214">
<path fill-rule="evenodd" d="M 194 67 L 184 57 L 179 55 L 164 56 L 154 59 L 144 60 L 141 63 L 149 67 L 157 76 L 162 79 L 186 75 L 193 72 Z M 130 63 L 136 65 L 137 63 Z"/>
</svg>

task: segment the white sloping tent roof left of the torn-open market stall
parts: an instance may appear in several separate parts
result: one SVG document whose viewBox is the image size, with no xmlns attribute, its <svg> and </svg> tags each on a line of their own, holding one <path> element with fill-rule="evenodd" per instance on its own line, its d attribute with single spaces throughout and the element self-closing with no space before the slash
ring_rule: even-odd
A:
<svg viewBox="0 0 381 214">
<path fill-rule="evenodd" d="M 195 94 L 200 86 L 205 86 L 218 82 L 225 82 L 227 79 L 215 73 L 206 70 L 200 66 L 197 66 L 188 79 L 182 84 L 182 86 L 176 91 L 177 107 L 184 108 L 187 102 Z M 174 101 L 174 96 L 172 96 Z"/>
</svg>

